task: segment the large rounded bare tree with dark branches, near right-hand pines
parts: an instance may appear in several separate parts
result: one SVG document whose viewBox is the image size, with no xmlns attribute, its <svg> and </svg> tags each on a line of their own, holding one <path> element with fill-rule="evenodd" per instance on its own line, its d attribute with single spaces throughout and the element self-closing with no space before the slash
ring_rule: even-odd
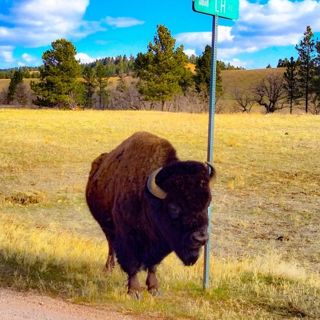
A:
<svg viewBox="0 0 320 320">
<path fill-rule="evenodd" d="M 254 88 L 255 101 L 265 107 L 266 113 L 281 110 L 286 103 L 286 91 L 282 75 L 271 73 L 263 77 Z"/>
</svg>

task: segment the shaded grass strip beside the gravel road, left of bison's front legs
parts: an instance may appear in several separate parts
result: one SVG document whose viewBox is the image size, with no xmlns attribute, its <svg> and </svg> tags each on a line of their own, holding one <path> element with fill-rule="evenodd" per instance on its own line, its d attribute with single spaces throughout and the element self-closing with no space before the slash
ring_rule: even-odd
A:
<svg viewBox="0 0 320 320">
<path fill-rule="evenodd" d="M 68 259 L 40 259 L 29 253 L 28 258 L 21 258 L 24 255 L 27 253 L 8 257 L 5 250 L 0 250 L 0 286 L 96 303 L 112 301 L 112 295 L 126 293 L 126 276 L 118 268 L 107 274 L 102 271 L 103 266 L 99 270 L 84 261 L 75 265 Z"/>
</svg>

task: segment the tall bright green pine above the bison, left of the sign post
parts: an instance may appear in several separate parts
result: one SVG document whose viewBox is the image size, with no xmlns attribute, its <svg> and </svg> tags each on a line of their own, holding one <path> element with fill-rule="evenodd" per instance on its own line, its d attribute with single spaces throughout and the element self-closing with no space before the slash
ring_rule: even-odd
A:
<svg viewBox="0 0 320 320">
<path fill-rule="evenodd" d="M 163 25 L 157 25 L 157 33 L 149 42 L 148 52 L 138 54 L 135 60 L 135 75 L 140 78 L 139 93 L 147 100 L 158 100 L 162 111 L 166 111 L 166 101 L 174 94 L 181 94 L 181 83 L 187 82 L 191 70 L 186 70 L 188 56 L 183 45 L 175 50 L 176 40 Z"/>
</svg>

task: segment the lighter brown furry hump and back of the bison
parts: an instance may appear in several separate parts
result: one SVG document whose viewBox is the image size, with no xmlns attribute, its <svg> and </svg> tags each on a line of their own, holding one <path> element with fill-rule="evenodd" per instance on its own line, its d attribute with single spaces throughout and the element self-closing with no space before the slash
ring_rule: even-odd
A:
<svg viewBox="0 0 320 320">
<path fill-rule="evenodd" d="M 175 149 L 166 139 L 150 132 L 136 132 L 93 161 L 87 197 L 111 210 L 119 197 L 140 198 L 149 175 L 177 160 Z"/>
</svg>

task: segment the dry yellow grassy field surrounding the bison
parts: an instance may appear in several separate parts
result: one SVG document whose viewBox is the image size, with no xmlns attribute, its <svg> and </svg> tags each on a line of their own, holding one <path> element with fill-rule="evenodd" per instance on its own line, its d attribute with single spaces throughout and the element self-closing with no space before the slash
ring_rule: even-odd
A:
<svg viewBox="0 0 320 320">
<path fill-rule="evenodd" d="M 119 266 L 103 272 L 107 243 L 84 197 L 91 161 L 139 130 L 167 138 L 183 160 L 204 161 L 207 118 L 0 109 L 0 285 L 167 319 L 299 319 L 297 309 L 319 319 L 316 116 L 216 116 L 205 292 L 202 258 L 183 267 L 168 256 L 163 296 L 144 290 L 141 302 L 128 297 Z"/>
</svg>

